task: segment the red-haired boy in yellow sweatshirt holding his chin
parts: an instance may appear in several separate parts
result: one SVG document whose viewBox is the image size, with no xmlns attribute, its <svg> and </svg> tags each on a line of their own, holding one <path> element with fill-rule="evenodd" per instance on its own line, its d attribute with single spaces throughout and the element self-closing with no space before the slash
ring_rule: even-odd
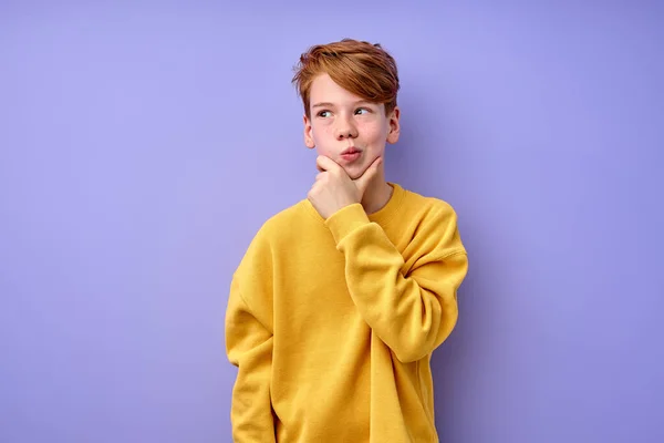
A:
<svg viewBox="0 0 664 443">
<path fill-rule="evenodd" d="M 355 40 L 317 45 L 293 83 L 320 173 L 234 274 L 234 441 L 437 442 L 429 359 L 456 323 L 468 262 L 447 203 L 385 181 L 394 59 Z"/>
</svg>

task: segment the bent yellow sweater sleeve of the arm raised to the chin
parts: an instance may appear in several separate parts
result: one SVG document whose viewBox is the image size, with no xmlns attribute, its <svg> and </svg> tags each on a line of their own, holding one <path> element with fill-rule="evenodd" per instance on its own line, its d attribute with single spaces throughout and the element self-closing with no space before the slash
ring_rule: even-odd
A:
<svg viewBox="0 0 664 443">
<path fill-rule="evenodd" d="M 360 204 L 325 224 L 345 257 L 351 297 L 372 330 L 402 362 L 433 352 L 456 324 L 457 289 L 468 269 L 454 210 L 446 206 L 417 229 L 407 272 L 402 254 Z"/>
</svg>

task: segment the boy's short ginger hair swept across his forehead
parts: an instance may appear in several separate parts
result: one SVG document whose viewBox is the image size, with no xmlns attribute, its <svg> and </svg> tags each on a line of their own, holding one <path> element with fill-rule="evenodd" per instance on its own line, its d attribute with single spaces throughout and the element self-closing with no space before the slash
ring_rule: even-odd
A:
<svg viewBox="0 0 664 443">
<path fill-rule="evenodd" d="M 302 97 L 308 117 L 311 117 L 311 84 L 318 75 L 325 73 L 334 83 L 363 100 L 384 104 L 385 114 L 396 107 L 400 89 L 396 62 L 380 43 L 343 39 L 317 44 L 302 53 L 294 71 L 292 83 Z"/>
</svg>

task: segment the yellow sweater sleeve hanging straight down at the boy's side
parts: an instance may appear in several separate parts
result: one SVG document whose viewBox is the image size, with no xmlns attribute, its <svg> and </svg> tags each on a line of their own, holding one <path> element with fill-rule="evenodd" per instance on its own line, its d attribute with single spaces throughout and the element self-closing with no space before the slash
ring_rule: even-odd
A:
<svg viewBox="0 0 664 443">
<path fill-rule="evenodd" d="M 238 367 L 230 410 L 236 443 L 276 441 L 270 401 L 272 332 L 258 317 L 234 277 L 226 311 L 226 351 Z"/>
</svg>

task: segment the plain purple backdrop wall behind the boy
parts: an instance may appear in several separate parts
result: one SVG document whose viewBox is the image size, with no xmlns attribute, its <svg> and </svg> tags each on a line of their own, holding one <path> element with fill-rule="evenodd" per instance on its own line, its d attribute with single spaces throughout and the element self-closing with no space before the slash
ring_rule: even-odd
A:
<svg viewBox="0 0 664 443">
<path fill-rule="evenodd" d="M 0 441 L 230 441 L 230 274 L 317 173 L 291 68 L 346 35 L 470 255 L 442 440 L 664 441 L 664 9 L 276 3 L 0 3 Z"/>
</svg>

